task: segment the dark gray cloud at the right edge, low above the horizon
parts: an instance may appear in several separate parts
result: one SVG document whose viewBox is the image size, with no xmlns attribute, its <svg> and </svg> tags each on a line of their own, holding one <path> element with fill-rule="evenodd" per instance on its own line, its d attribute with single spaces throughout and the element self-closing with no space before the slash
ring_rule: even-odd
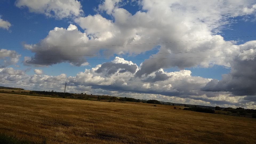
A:
<svg viewBox="0 0 256 144">
<path fill-rule="evenodd" d="M 222 79 L 211 80 L 201 90 L 229 91 L 235 95 L 256 94 L 256 61 L 255 59 L 235 59 L 231 64 L 229 74 L 223 74 Z"/>
</svg>

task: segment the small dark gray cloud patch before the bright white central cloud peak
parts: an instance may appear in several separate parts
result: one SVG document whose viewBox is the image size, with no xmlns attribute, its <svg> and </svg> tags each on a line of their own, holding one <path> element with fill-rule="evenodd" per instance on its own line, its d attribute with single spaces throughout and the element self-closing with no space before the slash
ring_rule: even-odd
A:
<svg viewBox="0 0 256 144">
<path fill-rule="evenodd" d="M 99 67 L 95 72 L 96 73 L 107 73 L 107 75 L 111 75 L 116 73 L 119 70 L 119 73 L 124 73 L 129 71 L 130 73 L 135 73 L 137 69 L 137 65 L 129 65 L 126 63 L 112 63 L 106 62 Z"/>
</svg>

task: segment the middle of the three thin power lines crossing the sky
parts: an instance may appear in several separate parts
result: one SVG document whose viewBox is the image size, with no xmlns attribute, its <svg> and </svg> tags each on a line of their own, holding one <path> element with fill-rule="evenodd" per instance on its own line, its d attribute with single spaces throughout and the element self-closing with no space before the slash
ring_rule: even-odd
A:
<svg viewBox="0 0 256 144">
<path fill-rule="evenodd" d="M 239 49 L 239 50 L 256 50 L 256 49 Z M 188 52 L 174 52 L 174 53 L 147 53 L 147 54 L 179 54 L 179 53 L 200 53 L 200 52 L 217 52 L 217 51 L 235 51 L 235 50 L 211 50 L 211 51 L 188 51 Z M 102 54 L 108 55 L 147 55 L 147 54 Z M 0 54 L 0 55 L 10 55 L 10 54 Z M 18 54 L 25 55 L 25 54 Z M 37 55 L 37 56 L 102 56 L 102 55 Z"/>
</svg>

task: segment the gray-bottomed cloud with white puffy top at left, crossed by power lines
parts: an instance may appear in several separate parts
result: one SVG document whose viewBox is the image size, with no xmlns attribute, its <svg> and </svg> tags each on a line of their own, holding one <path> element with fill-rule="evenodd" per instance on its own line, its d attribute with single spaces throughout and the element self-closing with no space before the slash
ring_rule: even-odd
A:
<svg viewBox="0 0 256 144">
<path fill-rule="evenodd" d="M 72 24 L 67 29 L 55 27 L 39 43 L 35 45 L 23 44 L 27 50 L 35 53 L 33 57 L 25 57 L 24 64 L 49 66 L 68 62 L 73 66 L 88 65 L 85 55 L 93 55 L 95 51 L 88 47 L 79 47 L 88 39 L 84 36 L 85 33 L 81 33 Z"/>
</svg>

